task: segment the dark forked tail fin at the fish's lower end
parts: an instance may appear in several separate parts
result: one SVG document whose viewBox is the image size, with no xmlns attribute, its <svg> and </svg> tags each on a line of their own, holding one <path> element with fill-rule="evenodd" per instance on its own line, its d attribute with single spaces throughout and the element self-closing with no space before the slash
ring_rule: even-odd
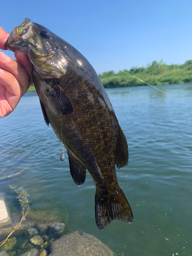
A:
<svg viewBox="0 0 192 256">
<path fill-rule="evenodd" d="M 120 187 L 115 195 L 103 196 L 99 190 L 95 195 L 95 221 L 99 229 L 105 229 L 112 220 L 133 222 L 132 209 Z"/>
</svg>

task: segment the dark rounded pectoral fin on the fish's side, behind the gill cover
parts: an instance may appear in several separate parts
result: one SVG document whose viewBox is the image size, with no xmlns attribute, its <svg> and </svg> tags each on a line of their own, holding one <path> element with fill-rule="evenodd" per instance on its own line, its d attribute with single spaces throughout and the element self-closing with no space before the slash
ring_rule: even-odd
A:
<svg viewBox="0 0 192 256">
<path fill-rule="evenodd" d="M 73 113 L 71 100 L 57 82 L 49 88 L 49 94 L 51 105 L 58 114 L 70 115 Z"/>
</svg>

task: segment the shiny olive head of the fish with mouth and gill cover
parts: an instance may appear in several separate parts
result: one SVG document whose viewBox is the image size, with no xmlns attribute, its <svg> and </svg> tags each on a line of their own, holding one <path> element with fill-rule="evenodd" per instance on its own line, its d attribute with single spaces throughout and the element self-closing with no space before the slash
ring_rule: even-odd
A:
<svg viewBox="0 0 192 256">
<path fill-rule="evenodd" d="M 27 51 L 35 71 L 41 78 L 60 78 L 69 66 L 68 57 L 59 45 L 60 38 L 29 18 L 15 27 L 6 41 L 11 51 Z"/>
</svg>

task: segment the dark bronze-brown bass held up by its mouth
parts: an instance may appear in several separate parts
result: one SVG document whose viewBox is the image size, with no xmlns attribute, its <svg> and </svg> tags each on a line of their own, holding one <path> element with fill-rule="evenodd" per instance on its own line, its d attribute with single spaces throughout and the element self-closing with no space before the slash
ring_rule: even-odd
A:
<svg viewBox="0 0 192 256">
<path fill-rule="evenodd" d="M 65 146 L 73 181 L 89 171 L 96 188 L 95 220 L 132 223 L 133 212 L 117 182 L 115 165 L 127 165 L 127 141 L 104 87 L 89 61 L 67 41 L 29 18 L 6 41 L 11 51 L 28 52 L 46 124 Z"/>
</svg>

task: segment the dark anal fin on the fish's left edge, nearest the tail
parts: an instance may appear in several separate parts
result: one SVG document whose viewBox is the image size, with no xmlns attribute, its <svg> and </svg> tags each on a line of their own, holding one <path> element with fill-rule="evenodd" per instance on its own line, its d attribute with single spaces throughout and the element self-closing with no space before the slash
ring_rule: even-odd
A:
<svg viewBox="0 0 192 256">
<path fill-rule="evenodd" d="M 86 168 L 77 163 L 68 153 L 69 156 L 69 167 L 73 181 L 78 186 L 82 185 L 86 180 Z"/>
</svg>

